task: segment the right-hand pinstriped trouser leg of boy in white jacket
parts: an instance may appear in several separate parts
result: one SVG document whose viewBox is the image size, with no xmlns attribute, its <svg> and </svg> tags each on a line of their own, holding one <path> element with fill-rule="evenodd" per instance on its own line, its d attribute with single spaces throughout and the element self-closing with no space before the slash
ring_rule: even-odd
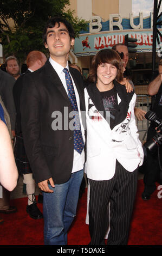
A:
<svg viewBox="0 0 162 256">
<path fill-rule="evenodd" d="M 119 164 L 110 200 L 110 232 L 107 245 L 127 245 L 129 225 L 137 191 L 138 169 L 128 172 Z"/>
</svg>

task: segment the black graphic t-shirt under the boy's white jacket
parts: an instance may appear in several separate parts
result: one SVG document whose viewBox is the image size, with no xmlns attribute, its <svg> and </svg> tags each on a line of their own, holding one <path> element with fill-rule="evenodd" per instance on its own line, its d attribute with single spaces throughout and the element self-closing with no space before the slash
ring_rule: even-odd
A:
<svg viewBox="0 0 162 256">
<path fill-rule="evenodd" d="M 106 92 L 100 92 L 100 95 L 106 111 L 106 120 L 108 121 L 111 129 L 113 129 L 118 108 L 117 92 L 115 88 L 113 88 Z"/>
</svg>

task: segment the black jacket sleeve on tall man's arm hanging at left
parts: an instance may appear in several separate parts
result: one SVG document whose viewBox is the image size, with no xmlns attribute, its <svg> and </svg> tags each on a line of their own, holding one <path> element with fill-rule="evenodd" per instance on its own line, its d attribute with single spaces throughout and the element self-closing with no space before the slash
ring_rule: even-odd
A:
<svg viewBox="0 0 162 256">
<path fill-rule="evenodd" d="M 31 74 L 25 75 L 22 84 L 20 103 L 22 133 L 25 151 L 34 173 L 34 178 L 38 183 L 51 177 L 40 141 L 41 96 Z"/>
</svg>

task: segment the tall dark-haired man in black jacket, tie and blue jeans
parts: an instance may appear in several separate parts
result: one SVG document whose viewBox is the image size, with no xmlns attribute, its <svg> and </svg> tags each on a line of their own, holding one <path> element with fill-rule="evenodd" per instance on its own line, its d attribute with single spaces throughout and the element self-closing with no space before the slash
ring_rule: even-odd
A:
<svg viewBox="0 0 162 256">
<path fill-rule="evenodd" d="M 35 180 L 43 191 L 44 244 L 66 245 L 67 231 L 76 214 L 83 178 L 85 134 L 81 112 L 85 111 L 82 76 L 68 67 L 68 54 L 75 33 L 69 22 L 55 17 L 44 28 L 44 45 L 50 58 L 39 70 L 25 75 L 21 96 L 25 150 Z M 66 68 L 66 69 L 64 69 Z M 68 75 L 68 71 L 70 77 Z M 67 76 L 72 82 L 67 82 Z M 80 125 L 72 129 L 74 87 Z M 72 90 L 73 90 L 72 89 Z M 76 107 L 76 104 L 75 104 Z M 75 115 L 75 117 L 76 117 Z M 74 149 L 79 130 L 82 149 Z"/>
</svg>

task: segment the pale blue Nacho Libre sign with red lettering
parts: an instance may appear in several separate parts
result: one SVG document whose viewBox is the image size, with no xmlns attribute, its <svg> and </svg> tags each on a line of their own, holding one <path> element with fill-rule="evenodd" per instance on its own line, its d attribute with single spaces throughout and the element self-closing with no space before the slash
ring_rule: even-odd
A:
<svg viewBox="0 0 162 256">
<path fill-rule="evenodd" d="M 161 30 L 161 29 L 159 29 Z M 75 56 L 90 56 L 95 55 L 97 51 L 104 48 L 112 48 L 115 44 L 124 44 L 125 35 L 137 39 L 137 52 L 152 52 L 152 29 L 138 29 L 99 32 L 98 34 L 81 34 L 75 39 L 74 53 Z M 161 40 L 160 40 L 161 41 Z"/>
</svg>

